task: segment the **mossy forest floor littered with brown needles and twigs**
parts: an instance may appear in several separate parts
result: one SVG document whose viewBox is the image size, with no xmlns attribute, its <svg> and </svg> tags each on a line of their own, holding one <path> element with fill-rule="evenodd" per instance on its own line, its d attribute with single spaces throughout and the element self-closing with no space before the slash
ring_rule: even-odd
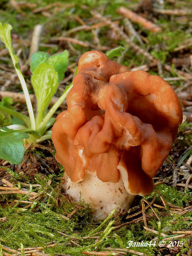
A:
<svg viewBox="0 0 192 256">
<path fill-rule="evenodd" d="M 157 30 L 136 23 L 134 15 L 122 16 L 122 6 L 150 20 Z M 136 196 L 128 213 L 116 218 L 111 214 L 104 221 L 92 220 L 89 205 L 71 202 L 61 190 L 63 168 L 55 160 L 51 140 L 26 148 L 21 164 L 0 159 L 0 186 L 7 188 L 0 191 L 0 256 L 192 255 L 191 0 L 0 0 L 0 8 L 0 21 L 13 27 L 13 48 L 31 94 L 32 48 L 50 54 L 69 51 L 58 97 L 72 82 L 84 52 L 124 46 L 123 55 L 114 60 L 162 76 L 178 94 L 184 116 L 172 151 L 154 178 L 153 194 L 143 200 Z M 41 33 L 32 44 L 38 24 Z M 27 115 L 18 98 L 19 79 L 0 43 L 0 97 L 7 92 L 14 108 Z M 64 103 L 56 115 L 65 108 Z M 0 126 L 13 123 L 11 116 L 0 113 Z M 141 241 L 148 246 L 134 244 Z M 160 241 L 165 244 L 159 246 Z"/>
</svg>

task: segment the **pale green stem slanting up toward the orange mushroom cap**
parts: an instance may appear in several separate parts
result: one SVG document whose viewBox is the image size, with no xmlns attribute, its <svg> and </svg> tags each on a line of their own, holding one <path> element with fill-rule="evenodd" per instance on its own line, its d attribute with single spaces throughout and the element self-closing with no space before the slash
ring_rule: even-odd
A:
<svg viewBox="0 0 192 256">
<path fill-rule="evenodd" d="M 49 112 L 47 113 L 47 115 L 44 117 L 44 119 L 42 120 L 42 122 L 37 126 L 36 130 L 41 134 L 42 131 L 44 130 L 44 127 L 46 126 L 47 122 L 49 121 L 49 119 L 52 117 L 52 115 L 55 113 L 55 111 L 59 108 L 61 102 L 63 100 L 65 100 L 65 98 L 67 97 L 68 92 L 71 90 L 71 88 L 73 87 L 73 83 L 71 83 L 69 86 L 66 87 L 65 91 L 63 92 L 63 94 L 61 95 L 61 97 L 59 98 L 59 100 L 57 100 L 55 102 L 55 104 L 52 106 L 52 108 L 49 110 Z"/>
</svg>

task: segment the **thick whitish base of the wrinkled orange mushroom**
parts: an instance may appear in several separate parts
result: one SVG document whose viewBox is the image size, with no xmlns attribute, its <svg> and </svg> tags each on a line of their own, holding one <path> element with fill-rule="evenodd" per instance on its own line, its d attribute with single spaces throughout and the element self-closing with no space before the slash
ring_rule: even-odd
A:
<svg viewBox="0 0 192 256">
<path fill-rule="evenodd" d="M 95 173 L 86 173 L 84 180 L 73 183 L 65 172 L 61 185 L 74 201 L 82 199 L 90 205 L 95 220 L 106 218 L 115 208 L 116 216 L 127 212 L 135 198 L 124 188 L 121 179 L 118 183 L 102 182 Z"/>
</svg>

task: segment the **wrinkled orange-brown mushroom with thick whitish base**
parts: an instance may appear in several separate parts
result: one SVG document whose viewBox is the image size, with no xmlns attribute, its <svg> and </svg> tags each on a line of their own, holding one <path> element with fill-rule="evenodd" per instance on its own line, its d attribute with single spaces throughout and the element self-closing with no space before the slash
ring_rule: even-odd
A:
<svg viewBox="0 0 192 256">
<path fill-rule="evenodd" d="M 67 104 L 52 128 L 66 194 L 84 199 L 101 219 L 152 193 L 182 122 L 172 87 L 90 51 L 79 59 Z"/>
</svg>

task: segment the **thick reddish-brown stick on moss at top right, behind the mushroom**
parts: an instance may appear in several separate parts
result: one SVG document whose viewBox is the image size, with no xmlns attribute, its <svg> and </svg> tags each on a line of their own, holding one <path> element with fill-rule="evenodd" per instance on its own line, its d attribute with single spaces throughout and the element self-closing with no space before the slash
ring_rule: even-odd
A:
<svg viewBox="0 0 192 256">
<path fill-rule="evenodd" d="M 116 12 L 130 19 L 133 22 L 141 24 L 143 28 L 147 28 L 154 33 L 161 31 L 161 28 L 157 24 L 154 24 L 153 22 L 141 17 L 137 13 L 132 12 L 131 10 L 123 6 L 121 6 Z"/>
</svg>

